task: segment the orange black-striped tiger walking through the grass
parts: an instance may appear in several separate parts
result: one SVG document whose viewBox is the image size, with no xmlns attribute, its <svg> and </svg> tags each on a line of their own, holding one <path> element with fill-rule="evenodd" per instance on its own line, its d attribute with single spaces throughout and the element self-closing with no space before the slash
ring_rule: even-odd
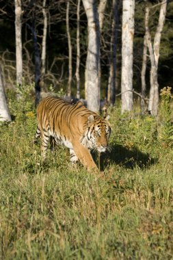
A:
<svg viewBox="0 0 173 260">
<path fill-rule="evenodd" d="M 70 161 L 80 161 L 88 171 L 96 170 L 91 150 L 103 153 L 108 148 L 111 126 L 109 115 L 101 118 L 87 109 L 81 101 L 69 103 L 61 98 L 47 96 L 37 107 L 36 139 L 41 139 L 42 157 L 46 157 L 50 138 L 55 144 L 70 149 Z"/>
</svg>

